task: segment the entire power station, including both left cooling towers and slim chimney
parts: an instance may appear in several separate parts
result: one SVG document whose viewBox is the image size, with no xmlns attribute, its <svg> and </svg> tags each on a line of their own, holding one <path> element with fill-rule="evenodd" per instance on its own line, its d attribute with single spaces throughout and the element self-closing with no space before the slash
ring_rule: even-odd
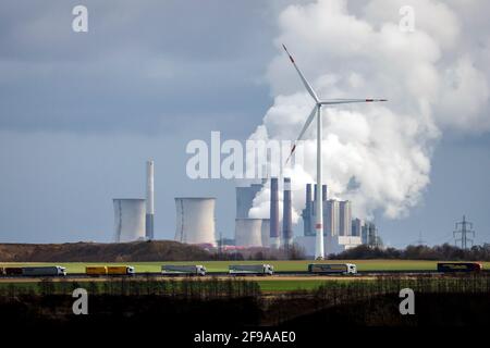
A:
<svg viewBox="0 0 490 348">
<path fill-rule="evenodd" d="M 117 198 L 114 204 L 114 241 L 151 240 L 154 233 L 154 161 L 147 161 L 146 199 Z M 280 215 L 279 187 L 282 186 L 282 215 Z M 254 199 L 265 187 L 270 188 L 269 216 L 252 217 Z M 235 187 L 236 215 L 233 245 L 226 249 L 267 248 L 287 250 L 292 246 L 299 248 L 305 256 L 314 258 L 316 248 L 315 221 L 317 220 L 318 185 L 305 187 L 305 207 L 301 212 L 301 223 L 293 226 L 291 178 L 262 178 L 259 183 Z M 342 252 L 362 244 L 375 246 L 378 243 L 376 225 L 352 216 L 352 202 L 329 199 L 327 185 L 321 186 L 323 250 L 327 254 Z M 175 197 L 175 236 L 174 240 L 200 245 L 207 248 L 218 247 L 216 232 L 215 197 Z M 282 216 L 282 217 L 281 217 Z"/>
</svg>

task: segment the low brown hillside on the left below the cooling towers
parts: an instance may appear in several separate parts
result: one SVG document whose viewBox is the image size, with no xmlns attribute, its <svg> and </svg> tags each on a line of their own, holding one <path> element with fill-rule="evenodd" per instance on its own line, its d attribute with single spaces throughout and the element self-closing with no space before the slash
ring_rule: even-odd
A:
<svg viewBox="0 0 490 348">
<path fill-rule="evenodd" d="M 121 244 L 0 244 L 0 262 L 127 262 L 209 260 L 200 247 L 170 240 Z"/>
</svg>

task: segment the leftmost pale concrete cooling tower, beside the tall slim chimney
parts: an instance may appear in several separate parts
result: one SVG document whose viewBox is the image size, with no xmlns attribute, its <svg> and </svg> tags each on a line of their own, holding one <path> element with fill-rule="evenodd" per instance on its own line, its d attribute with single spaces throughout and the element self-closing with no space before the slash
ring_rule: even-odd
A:
<svg viewBox="0 0 490 348">
<path fill-rule="evenodd" d="M 145 238 L 145 199 L 114 199 L 114 241 Z"/>
</svg>

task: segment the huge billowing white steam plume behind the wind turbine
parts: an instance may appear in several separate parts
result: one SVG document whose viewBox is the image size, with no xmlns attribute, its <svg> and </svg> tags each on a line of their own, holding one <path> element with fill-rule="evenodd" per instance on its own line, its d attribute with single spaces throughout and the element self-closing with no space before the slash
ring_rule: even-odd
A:
<svg viewBox="0 0 490 348">
<path fill-rule="evenodd" d="M 392 219 L 406 215 L 429 184 L 431 152 L 443 132 L 490 129 L 489 30 L 483 20 L 474 21 L 487 3 L 411 1 L 413 33 L 399 27 L 405 1 L 372 0 L 357 16 L 345 0 L 287 7 L 279 16 L 278 55 L 267 73 L 277 97 L 250 138 L 292 140 L 311 110 L 280 49 L 284 42 L 320 98 L 389 99 L 323 109 L 323 181 L 330 197 L 353 201 L 356 216 L 375 210 Z M 292 177 L 295 221 L 305 184 L 315 181 L 314 125 L 304 156 L 304 166 L 285 173 Z M 250 216 L 267 217 L 268 199 L 265 188 Z"/>
</svg>

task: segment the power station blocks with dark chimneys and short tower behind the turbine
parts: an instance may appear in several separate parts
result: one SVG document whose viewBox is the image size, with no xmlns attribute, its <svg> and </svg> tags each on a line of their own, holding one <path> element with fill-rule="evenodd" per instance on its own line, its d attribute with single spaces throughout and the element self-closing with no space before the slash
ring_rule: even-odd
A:
<svg viewBox="0 0 490 348">
<path fill-rule="evenodd" d="M 270 215 L 268 219 L 248 216 L 254 198 L 265 185 L 270 184 Z M 313 195 L 313 188 L 315 195 Z M 284 248 L 292 245 L 301 247 L 309 257 L 315 256 L 315 220 L 317 186 L 306 185 L 306 203 L 302 211 L 303 235 L 294 237 L 292 222 L 291 178 L 283 179 L 283 213 L 279 215 L 279 179 L 262 179 L 260 184 L 236 187 L 235 245 L 237 247 Z M 341 252 L 358 245 L 376 245 L 378 240 L 376 225 L 352 217 L 352 202 L 328 199 L 327 185 L 322 185 L 323 204 L 323 244 L 327 253 Z M 261 228 L 259 227 L 261 224 Z M 299 224 L 298 224 L 299 225 Z M 259 233 L 259 229 L 261 231 Z M 258 236 L 261 235 L 262 244 Z"/>
</svg>

